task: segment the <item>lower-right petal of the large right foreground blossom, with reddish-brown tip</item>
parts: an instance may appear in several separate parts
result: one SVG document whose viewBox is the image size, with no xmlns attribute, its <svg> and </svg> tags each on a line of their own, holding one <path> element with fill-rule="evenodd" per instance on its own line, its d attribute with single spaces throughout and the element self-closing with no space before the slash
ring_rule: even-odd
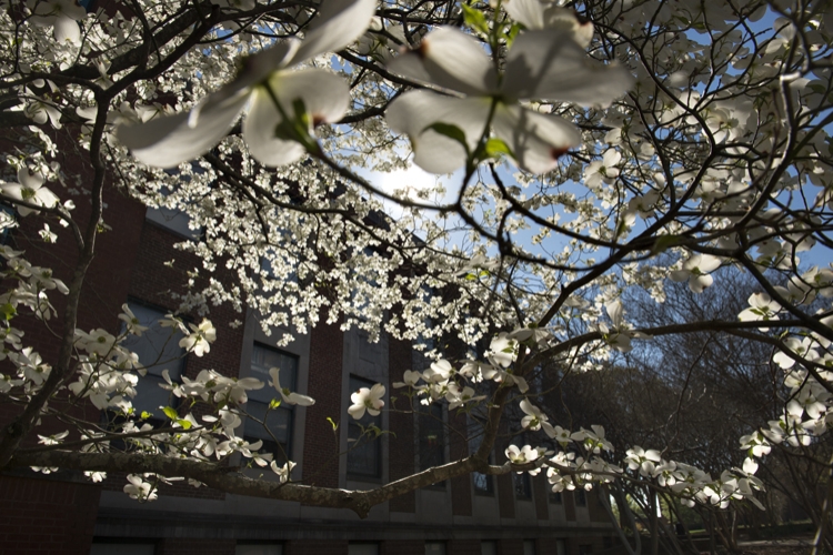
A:
<svg viewBox="0 0 833 555">
<path fill-rule="evenodd" d="M 518 165 L 532 173 L 551 171 L 559 157 L 581 141 L 579 131 L 566 120 L 518 105 L 499 105 L 492 124 L 494 134 L 509 144 Z"/>
</svg>

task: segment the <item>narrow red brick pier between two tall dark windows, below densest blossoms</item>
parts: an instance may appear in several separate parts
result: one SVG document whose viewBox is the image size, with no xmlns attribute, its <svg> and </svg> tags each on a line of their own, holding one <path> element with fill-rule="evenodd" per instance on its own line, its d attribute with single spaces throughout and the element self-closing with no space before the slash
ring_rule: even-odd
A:
<svg viewBox="0 0 833 555">
<path fill-rule="evenodd" d="M 333 441 L 330 416 L 340 422 L 341 369 L 344 334 L 340 323 L 320 322 L 310 333 L 308 394 L 315 404 L 307 407 L 303 442 L 303 480 L 310 485 L 339 487 L 338 444 Z M 344 424 L 347 425 L 347 424 Z"/>
</svg>

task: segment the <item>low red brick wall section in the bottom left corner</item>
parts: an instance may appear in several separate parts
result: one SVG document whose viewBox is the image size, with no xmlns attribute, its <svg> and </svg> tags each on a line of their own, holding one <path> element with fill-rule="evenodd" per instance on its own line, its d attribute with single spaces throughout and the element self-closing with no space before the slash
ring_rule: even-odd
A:
<svg viewBox="0 0 833 555">
<path fill-rule="evenodd" d="M 0 553 L 88 555 L 101 488 L 0 476 Z"/>
</svg>

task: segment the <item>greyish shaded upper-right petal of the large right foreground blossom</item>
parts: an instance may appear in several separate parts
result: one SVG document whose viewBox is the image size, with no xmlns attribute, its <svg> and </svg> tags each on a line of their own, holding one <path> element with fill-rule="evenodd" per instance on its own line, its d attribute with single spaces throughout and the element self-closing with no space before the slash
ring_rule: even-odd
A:
<svg viewBox="0 0 833 555">
<path fill-rule="evenodd" d="M 575 42 L 544 30 L 515 39 L 506 57 L 503 90 L 518 99 L 593 105 L 621 97 L 632 82 L 626 69 L 604 65 Z"/>
</svg>

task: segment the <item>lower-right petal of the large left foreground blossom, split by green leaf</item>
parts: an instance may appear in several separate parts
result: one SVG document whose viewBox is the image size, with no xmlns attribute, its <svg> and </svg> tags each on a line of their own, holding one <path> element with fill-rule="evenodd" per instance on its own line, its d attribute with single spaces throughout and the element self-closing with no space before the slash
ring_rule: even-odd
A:
<svg viewBox="0 0 833 555">
<path fill-rule="evenodd" d="M 292 104 L 300 99 L 313 123 L 338 121 L 350 104 L 348 83 L 324 70 L 280 72 L 275 73 L 269 83 L 287 114 L 294 113 Z M 259 162 L 267 165 L 283 165 L 303 155 L 304 149 L 300 143 L 274 137 L 275 127 L 281 121 L 283 117 L 275 109 L 265 89 L 255 88 L 251 108 L 243 121 L 243 139 L 252 157 Z"/>
</svg>

